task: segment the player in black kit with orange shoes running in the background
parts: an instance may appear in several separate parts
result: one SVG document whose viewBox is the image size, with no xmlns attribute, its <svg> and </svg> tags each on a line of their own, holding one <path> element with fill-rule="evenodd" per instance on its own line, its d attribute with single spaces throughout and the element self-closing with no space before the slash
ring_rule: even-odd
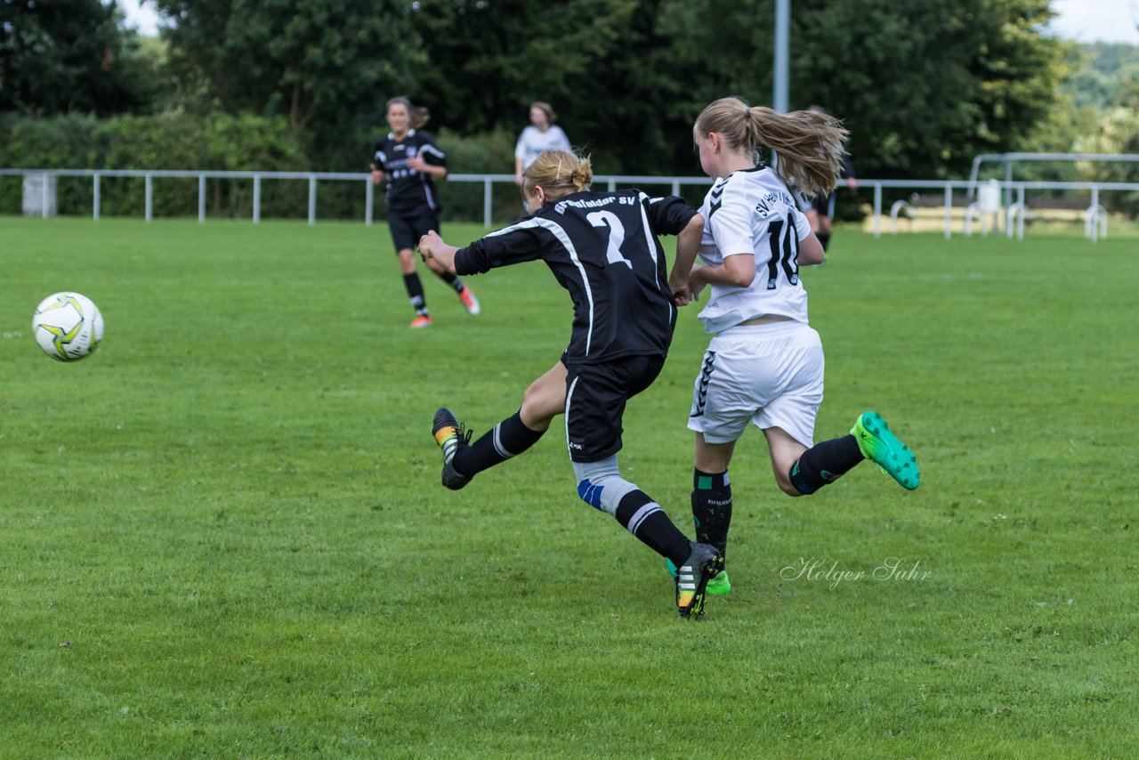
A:
<svg viewBox="0 0 1139 760">
<path fill-rule="evenodd" d="M 427 123 L 426 108 L 412 108 L 411 101 L 403 97 L 392 98 L 387 101 L 386 119 L 392 131 L 376 144 L 371 181 L 379 185 L 387 180 L 387 227 L 400 258 L 403 285 L 416 310 L 411 326 L 429 327 L 432 319 L 412 248 L 427 230 L 440 228 L 435 180 L 446 177 L 446 155 L 435 145 L 435 138 L 418 131 Z M 435 262 L 428 261 L 427 265 L 454 289 L 468 313 L 478 313 L 478 300 L 462 280 Z"/>
</svg>

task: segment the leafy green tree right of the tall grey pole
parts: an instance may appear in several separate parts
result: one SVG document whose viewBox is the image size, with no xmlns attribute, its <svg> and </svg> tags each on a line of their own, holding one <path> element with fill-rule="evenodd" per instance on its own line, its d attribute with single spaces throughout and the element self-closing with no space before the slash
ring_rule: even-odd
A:
<svg viewBox="0 0 1139 760">
<path fill-rule="evenodd" d="M 862 173 L 948 175 L 1048 114 L 1065 43 L 1048 0 L 795 3 L 792 93 L 851 129 Z"/>
</svg>

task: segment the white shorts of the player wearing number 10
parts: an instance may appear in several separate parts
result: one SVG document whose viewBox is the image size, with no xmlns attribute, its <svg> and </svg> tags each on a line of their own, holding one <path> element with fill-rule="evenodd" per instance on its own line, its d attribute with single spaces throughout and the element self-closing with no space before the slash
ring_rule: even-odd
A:
<svg viewBox="0 0 1139 760">
<path fill-rule="evenodd" d="M 708 443 L 739 439 L 751 420 L 810 448 L 822 403 L 822 341 L 803 322 L 732 327 L 712 338 L 693 387 L 688 428 Z"/>
</svg>

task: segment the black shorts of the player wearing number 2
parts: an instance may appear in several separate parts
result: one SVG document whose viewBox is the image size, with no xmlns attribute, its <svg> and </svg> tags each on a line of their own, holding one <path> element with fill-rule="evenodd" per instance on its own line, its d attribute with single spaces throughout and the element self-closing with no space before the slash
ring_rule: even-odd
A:
<svg viewBox="0 0 1139 760">
<path fill-rule="evenodd" d="M 566 441 L 573 461 L 600 461 L 621 450 L 625 402 L 652 385 L 662 367 L 662 356 L 566 365 Z"/>
</svg>

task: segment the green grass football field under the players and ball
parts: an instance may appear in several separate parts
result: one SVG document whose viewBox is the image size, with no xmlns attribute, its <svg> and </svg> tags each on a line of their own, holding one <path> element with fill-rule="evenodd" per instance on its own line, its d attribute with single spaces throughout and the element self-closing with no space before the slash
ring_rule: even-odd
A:
<svg viewBox="0 0 1139 760">
<path fill-rule="evenodd" d="M 921 488 L 788 499 L 748 433 L 686 622 L 558 424 L 439 484 L 434 409 L 481 434 L 568 338 L 543 265 L 477 318 L 426 280 L 412 332 L 383 226 L 2 218 L 0 757 L 1133 757 L 1137 254 L 841 230 L 817 438 L 877 409 Z M 106 319 L 73 365 L 30 334 L 62 289 Z M 686 310 L 625 420 L 686 530 L 705 344 Z"/>
</svg>

